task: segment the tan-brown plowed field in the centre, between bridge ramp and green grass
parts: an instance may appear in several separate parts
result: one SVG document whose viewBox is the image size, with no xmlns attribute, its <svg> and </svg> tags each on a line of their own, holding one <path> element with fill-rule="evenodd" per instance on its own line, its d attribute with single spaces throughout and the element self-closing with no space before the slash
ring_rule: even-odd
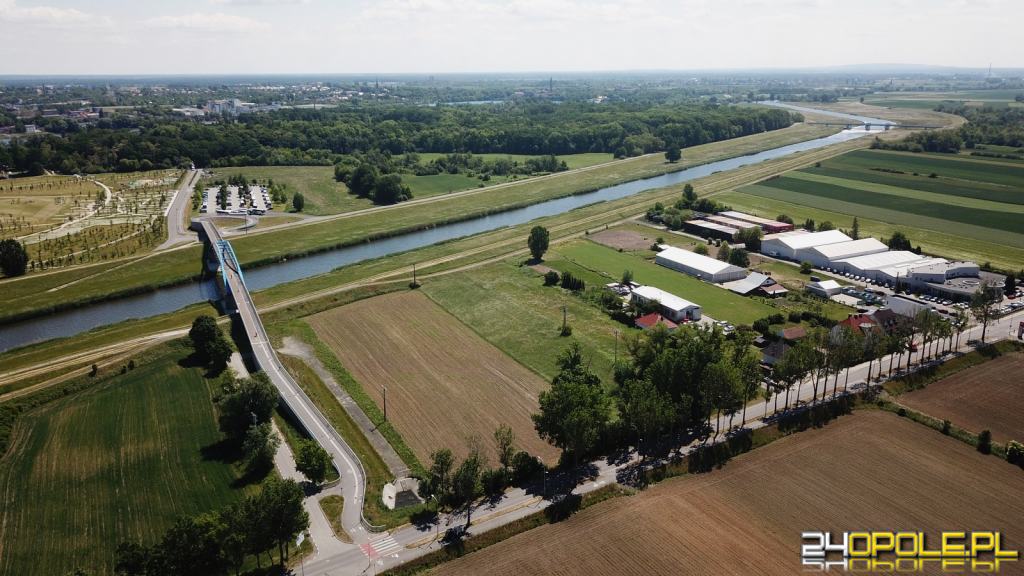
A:
<svg viewBox="0 0 1024 576">
<path fill-rule="evenodd" d="M 530 414 L 548 384 L 419 292 L 400 292 L 317 314 L 317 336 L 387 415 L 424 463 L 438 448 L 457 456 L 476 436 L 493 464 L 494 431 L 508 424 L 517 448 L 554 461 Z"/>
</svg>

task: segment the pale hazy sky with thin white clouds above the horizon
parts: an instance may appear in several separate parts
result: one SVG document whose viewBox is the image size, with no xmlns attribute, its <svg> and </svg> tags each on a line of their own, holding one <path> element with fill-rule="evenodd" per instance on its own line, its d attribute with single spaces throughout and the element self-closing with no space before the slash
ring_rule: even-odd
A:
<svg viewBox="0 0 1024 576">
<path fill-rule="evenodd" d="M 1022 0 L 0 0 L 0 75 L 1024 68 Z"/>
</svg>

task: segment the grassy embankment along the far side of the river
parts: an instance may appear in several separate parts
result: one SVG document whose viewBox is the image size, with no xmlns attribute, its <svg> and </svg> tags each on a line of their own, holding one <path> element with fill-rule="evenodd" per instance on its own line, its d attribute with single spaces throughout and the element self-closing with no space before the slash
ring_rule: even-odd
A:
<svg viewBox="0 0 1024 576">
<path fill-rule="evenodd" d="M 492 187 L 476 194 L 442 197 L 430 203 L 397 205 L 351 217 L 253 233 L 232 241 L 232 245 L 243 265 L 254 266 L 554 198 L 584 194 L 697 164 L 820 137 L 831 131 L 834 130 L 821 126 L 798 124 L 774 132 L 686 149 L 683 161 L 677 164 L 666 163 L 660 155 L 648 155 L 584 171 Z M 4 294 L 0 300 L 3 303 L 0 322 L 50 314 L 72 305 L 189 282 L 202 273 L 201 254 L 202 248 L 194 245 L 126 260 L 112 268 L 103 266 L 103 270 L 96 270 L 91 274 L 83 275 L 80 271 L 71 270 L 0 282 L 0 289 Z M 13 286 L 13 292 L 8 290 L 9 286 Z"/>
</svg>

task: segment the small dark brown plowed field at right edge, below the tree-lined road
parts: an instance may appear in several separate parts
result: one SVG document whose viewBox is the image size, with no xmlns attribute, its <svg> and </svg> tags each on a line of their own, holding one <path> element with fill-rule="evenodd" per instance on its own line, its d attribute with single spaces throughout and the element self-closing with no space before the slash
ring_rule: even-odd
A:
<svg viewBox="0 0 1024 576">
<path fill-rule="evenodd" d="M 1024 354 L 968 368 L 899 398 L 900 404 L 949 420 L 996 442 L 1024 442 Z"/>
</svg>

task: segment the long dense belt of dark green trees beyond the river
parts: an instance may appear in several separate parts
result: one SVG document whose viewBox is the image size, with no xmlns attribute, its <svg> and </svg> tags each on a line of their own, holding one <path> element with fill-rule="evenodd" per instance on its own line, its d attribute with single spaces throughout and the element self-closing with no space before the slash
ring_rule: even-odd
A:
<svg viewBox="0 0 1024 576">
<path fill-rule="evenodd" d="M 518 102 L 510 106 L 356 105 L 289 109 L 204 124 L 167 116 L 114 115 L 61 137 L 0 148 L 15 172 L 137 171 L 187 166 L 332 165 L 358 152 L 621 156 L 685 148 L 784 128 L 782 110 L 693 104 Z"/>
</svg>

